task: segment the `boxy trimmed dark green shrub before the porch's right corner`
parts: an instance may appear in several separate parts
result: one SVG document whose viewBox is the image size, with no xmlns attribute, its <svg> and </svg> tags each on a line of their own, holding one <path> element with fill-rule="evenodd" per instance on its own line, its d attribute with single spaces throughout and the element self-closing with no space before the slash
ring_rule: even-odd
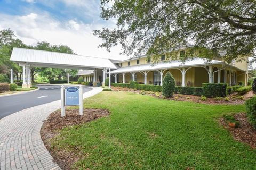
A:
<svg viewBox="0 0 256 170">
<path fill-rule="evenodd" d="M 203 93 L 206 97 L 226 97 L 226 83 L 203 83 Z"/>
</svg>

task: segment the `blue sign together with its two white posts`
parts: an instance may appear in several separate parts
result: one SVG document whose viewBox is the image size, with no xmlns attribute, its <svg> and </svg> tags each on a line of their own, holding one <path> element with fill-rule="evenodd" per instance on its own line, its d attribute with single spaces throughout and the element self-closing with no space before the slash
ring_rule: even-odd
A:
<svg viewBox="0 0 256 170">
<path fill-rule="evenodd" d="M 80 85 L 79 89 L 76 87 L 64 88 L 61 86 L 61 117 L 65 116 L 65 106 L 78 106 L 79 115 L 83 115 L 83 87 Z"/>
</svg>

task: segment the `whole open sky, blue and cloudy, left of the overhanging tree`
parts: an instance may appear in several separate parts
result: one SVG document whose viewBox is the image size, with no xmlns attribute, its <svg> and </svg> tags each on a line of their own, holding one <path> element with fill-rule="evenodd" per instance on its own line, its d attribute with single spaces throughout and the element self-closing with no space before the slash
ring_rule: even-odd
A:
<svg viewBox="0 0 256 170">
<path fill-rule="evenodd" d="M 120 54 L 121 46 L 110 53 L 98 48 L 102 40 L 92 31 L 115 27 L 115 21 L 101 19 L 100 12 L 100 0 L 0 0 L 0 30 L 10 28 L 27 45 L 47 41 L 67 45 L 78 55 L 129 58 Z"/>
</svg>

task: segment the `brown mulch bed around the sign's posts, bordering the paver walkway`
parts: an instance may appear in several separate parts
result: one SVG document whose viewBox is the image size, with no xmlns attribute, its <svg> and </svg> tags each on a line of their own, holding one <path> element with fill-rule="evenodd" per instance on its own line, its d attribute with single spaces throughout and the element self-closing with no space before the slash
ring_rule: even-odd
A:
<svg viewBox="0 0 256 170">
<path fill-rule="evenodd" d="M 79 109 L 70 109 L 66 111 L 65 117 L 61 117 L 61 111 L 55 111 L 47 117 L 41 128 L 41 138 L 44 145 L 61 169 L 71 169 L 71 165 L 82 158 L 83 155 L 75 155 L 68 150 L 54 149 L 51 147 L 51 139 L 59 135 L 62 128 L 97 120 L 110 114 L 107 109 L 95 108 L 86 108 L 83 113 L 83 116 L 80 116 Z"/>
</svg>

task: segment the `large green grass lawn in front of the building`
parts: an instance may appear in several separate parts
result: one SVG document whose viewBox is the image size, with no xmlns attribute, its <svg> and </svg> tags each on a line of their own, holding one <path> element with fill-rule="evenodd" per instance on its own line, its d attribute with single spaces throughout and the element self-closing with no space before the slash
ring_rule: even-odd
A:
<svg viewBox="0 0 256 170">
<path fill-rule="evenodd" d="M 243 105 L 170 101 L 127 92 L 101 92 L 84 107 L 108 117 L 61 130 L 55 149 L 83 157 L 74 169 L 256 169 L 256 150 L 218 124 Z"/>
</svg>

